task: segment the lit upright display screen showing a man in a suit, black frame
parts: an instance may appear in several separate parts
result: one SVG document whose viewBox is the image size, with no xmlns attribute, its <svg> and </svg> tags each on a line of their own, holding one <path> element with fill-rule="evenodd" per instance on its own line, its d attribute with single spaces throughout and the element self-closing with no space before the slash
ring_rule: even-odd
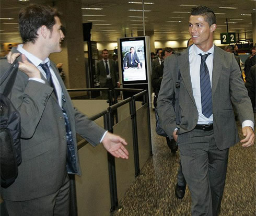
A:
<svg viewBox="0 0 256 216">
<path fill-rule="evenodd" d="M 119 40 L 123 84 L 147 83 L 146 38 L 120 38 Z"/>
</svg>

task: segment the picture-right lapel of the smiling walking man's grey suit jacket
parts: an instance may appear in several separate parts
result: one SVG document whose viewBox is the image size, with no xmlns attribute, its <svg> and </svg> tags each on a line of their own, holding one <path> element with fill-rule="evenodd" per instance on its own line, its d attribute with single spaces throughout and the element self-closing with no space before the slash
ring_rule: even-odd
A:
<svg viewBox="0 0 256 216">
<path fill-rule="evenodd" d="M 212 95 L 217 88 L 219 77 L 222 73 L 222 53 L 219 52 L 219 48 L 214 46 L 214 56 L 213 56 L 213 75 L 212 75 Z"/>
</svg>

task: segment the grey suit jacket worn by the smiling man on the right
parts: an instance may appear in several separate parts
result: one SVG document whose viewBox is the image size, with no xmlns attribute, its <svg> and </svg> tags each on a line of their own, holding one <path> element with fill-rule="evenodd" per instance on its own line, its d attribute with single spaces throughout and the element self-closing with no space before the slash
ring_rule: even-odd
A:
<svg viewBox="0 0 256 216">
<path fill-rule="evenodd" d="M 171 55 L 167 57 L 164 64 L 164 75 L 157 105 L 162 127 L 171 137 L 177 127 L 179 128 L 178 135 L 193 130 L 198 121 L 198 112 L 190 77 L 189 49 L 182 52 L 180 56 Z M 181 122 L 179 126 L 176 125 L 176 114 L 172 106 L 178 69 L 180 69 L 181 74 L 179 93 Z M 218 149 L 223 150 L 239 141 L 231 103 L 237 109 L 240 122 L 245 120 L 254 122 L 254 119 L 251 102 L 234 55 L 217 46 L 214 48 L 212 100 L 214 138 Z"/>
</svg>

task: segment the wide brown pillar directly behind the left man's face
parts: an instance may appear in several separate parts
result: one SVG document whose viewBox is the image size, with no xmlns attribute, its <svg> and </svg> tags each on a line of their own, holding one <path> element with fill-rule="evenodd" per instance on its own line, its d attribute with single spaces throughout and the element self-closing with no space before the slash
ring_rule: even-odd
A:
<svg viewBox="0 0 256 216">
<path fill-rule="evenodd" d="M 57 0 L 53 7 L 62 13 L 60 19 L 66 34 L 62 52 L 53 53 L 50 58 L 56 64 L 63 63 L 67 88 L 86 88 L 81 0 Z"/>
</svg>

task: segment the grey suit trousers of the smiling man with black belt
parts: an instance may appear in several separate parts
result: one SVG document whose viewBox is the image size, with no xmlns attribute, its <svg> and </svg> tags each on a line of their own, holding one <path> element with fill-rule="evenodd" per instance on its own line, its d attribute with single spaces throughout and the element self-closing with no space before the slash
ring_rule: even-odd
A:
<svg viewBox="0 0 256 216">
<path fill-rule="evenodd" d="M 180 159 L 192 197 L 192 216 L 217 216 L 225 186 L 228 150 L 216 146 L 213 130 L 178 136 Z"/>
</svg>

